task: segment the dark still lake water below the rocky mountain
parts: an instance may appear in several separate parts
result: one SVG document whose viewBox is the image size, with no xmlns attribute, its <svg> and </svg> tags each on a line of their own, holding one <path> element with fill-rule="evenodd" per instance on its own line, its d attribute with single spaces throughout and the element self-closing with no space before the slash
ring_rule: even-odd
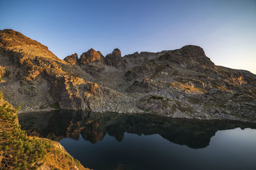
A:
<svg viewBox="0 0 256 170">
<path fill-rule="evenodd" d="M 256 125 L 154 115 L 19 115 L 30 135 L 60 141 L 93 169 L 256 169 Z"/>
</svg>

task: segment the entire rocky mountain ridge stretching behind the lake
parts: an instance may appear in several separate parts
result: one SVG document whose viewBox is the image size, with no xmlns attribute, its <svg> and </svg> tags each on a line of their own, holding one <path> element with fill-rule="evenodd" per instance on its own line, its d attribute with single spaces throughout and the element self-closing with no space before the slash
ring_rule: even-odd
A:
<svg viewBox="0 0 256 170">
<path fill-rule="evenodd" d="M 256 122 L 256 75 L 216 66 L 200 46 L 104 57 L 93 48 L 58 59 L 11 29 L 0 31 L 0 90 L 19 113 L 91 110 Z"/>
</svg>

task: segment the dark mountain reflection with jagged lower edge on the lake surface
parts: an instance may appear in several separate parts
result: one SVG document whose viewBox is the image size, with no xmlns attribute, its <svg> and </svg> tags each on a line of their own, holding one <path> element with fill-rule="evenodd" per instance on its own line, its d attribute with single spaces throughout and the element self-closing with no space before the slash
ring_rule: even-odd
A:
<svg viewBox="0 0 256 170">
<path fill-rule="evenodd" d="M 55 141 L 63 138 L 78 140 L 79 136 L 91 143 L 104 139 L 108 133 L 117 141 L 129 134 L 159 134 L 164 139 L 189 148 L 205 148 L 217 131 L 236 127 L 256 129 L 255 124 L 230 121 L 185 120 L 138 114 L 92 113 L 84 111 L 52 111 L 19 115 L 19 123 L 30 136 Z"/>
</svg>

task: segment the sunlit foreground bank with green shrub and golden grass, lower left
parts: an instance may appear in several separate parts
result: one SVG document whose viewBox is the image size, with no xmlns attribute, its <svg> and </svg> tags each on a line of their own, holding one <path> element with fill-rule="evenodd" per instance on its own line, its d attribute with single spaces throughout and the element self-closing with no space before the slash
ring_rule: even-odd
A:
<svg viewBox="0 0 256 170">
<path fill-rule="evenodd" d="M 22 131 L 18 110 L 4 101 L 0 92 L 0 169 L 85 169 L 60 143 Z"/>
</svg>

